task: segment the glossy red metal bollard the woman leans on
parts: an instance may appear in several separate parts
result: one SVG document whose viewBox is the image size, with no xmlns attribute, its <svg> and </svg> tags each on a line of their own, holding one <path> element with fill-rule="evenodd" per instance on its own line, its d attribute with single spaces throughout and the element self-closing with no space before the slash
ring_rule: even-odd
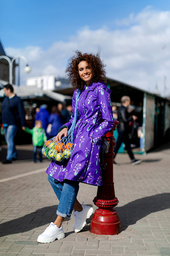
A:
<svg viewBox="0 0 170 256">
<path fill-rule="evenodd" d="M 113 210 L 119 201 L 115 197 L 113 183 L 113 146 L 116 145 L 113 131 L 119 124 L 115 121 L 113 129 L 106 134 L 106 139 L 110 144 L 109 151 L 104 154 L 105 170 L 102 170 L 103 186 L 99 186 L 94 204 L 99 207 L 95 210 L 91 220 L 91 233 L 97 235 L 117 235 L 120 233 L 120 220 L 117 212 Z"/>
</svg>

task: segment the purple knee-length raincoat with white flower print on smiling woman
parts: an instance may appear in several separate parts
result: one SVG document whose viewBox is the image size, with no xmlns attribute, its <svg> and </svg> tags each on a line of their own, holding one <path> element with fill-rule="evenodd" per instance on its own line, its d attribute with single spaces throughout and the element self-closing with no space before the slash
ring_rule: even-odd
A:
<svg viewBox="0 0 170 256">
<path fill-rule="evenodd" d="M 74 130 L 74 150 L 65 162 L 52 161 L 46 173 L 56 180 L 76 180 L 102 186 L 99 163 L 101 138 L 113 128 L 111 90 L 101 82 L 85 86 L 78 100 L 79 117 Z M 73 115 L 65 125 L 69 128 L 74 119 L 77 90 L 73 95 Z"/>
</svg>

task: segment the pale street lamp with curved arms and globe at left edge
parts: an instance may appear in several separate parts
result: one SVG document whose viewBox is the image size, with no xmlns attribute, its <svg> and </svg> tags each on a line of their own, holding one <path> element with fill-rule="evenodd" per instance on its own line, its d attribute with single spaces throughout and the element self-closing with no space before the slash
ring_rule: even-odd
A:
<svg viewBox="0 0 170 256">
<path fill-rule="evenodd" d="M 12 68 L 13 68 L 13 63 L 14 63 L 14 60 L 16 60 L 17 58 L 21 58 L 23 61 L 26 62 L 26 67 L 24 69 L 25 72 L 26 73 L 30 73 L 31 72 L 31 67 L 28 65 L 28 61 L 27 61 L 26 57 L 24 57 L 22 55 L 17 55 L 17 56 L 15 56 L 14 58 L 12 58 L 10 60 L 10 58 L 8 58 L 5 55 L 0 56 L 0 59 L 6 59 L 8 61 L 8 64 L 9 64 L 9 83 L 10 84 L 12 84 Z"/>
</svg>

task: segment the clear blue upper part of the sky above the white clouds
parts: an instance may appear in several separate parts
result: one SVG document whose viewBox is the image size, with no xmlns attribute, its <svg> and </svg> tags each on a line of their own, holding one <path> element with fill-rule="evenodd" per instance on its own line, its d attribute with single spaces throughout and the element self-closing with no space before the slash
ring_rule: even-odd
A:
<svg viewBox="0 0 170 256">
<path fill-rule="evenodd" d="M 33 45 L 46 49 L 54 41 L 67 41 L 85 26 L 116 29 L 116 20 L 138 13 L 146 6 L 166 11 L 170 9 L 170 1 L 5 0 L 0 6 L 0 38 L 4 47 Z"/>
</svg>

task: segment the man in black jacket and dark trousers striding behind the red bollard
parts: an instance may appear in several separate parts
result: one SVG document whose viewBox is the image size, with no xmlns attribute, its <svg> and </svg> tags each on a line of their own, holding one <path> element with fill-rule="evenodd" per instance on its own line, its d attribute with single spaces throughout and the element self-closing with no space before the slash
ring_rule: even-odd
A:
<svg viewBox="0 0 170 256">
<path fill-rule="evenodd" d="M 115 155 L 113 157 L 113 163 L 116 164 L 114 159 L 115 159 L 116 154 L 123 142 L 123 143 L 125 143 L 127 153 L 129 154 L 132 165 L 135 165 L 135 164 L 141 163 L 142 160 L 135 159 L 133 152 L 131 150 L 131 147 L 130 147 L 130 140 L 129 140 L 128 134 L 129 134 L 129 122 L 132 120 L 135 121 L 137 119 L 137 116 L 130 116 L 127 111 L 127 108 L 130 105 L 130 97 L 129 96 L 123 96 L 121 98 L 121 103 L 122 103 L 122 105 L 118 109 L 119 125 L 118 125 L 117 130 L 118 130 L 119 136 L 117 138 L 116 147 L 114 149 Z"/>
</svg>

